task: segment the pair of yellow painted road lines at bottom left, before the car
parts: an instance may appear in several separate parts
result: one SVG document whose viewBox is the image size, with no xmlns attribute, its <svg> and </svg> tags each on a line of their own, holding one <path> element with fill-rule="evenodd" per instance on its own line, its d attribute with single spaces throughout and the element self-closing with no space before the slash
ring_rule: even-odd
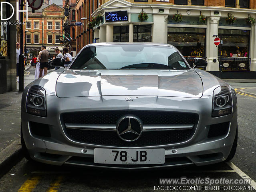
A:
<svg viewBox="0 0 256 192">
<path fill-rule="evenodd" d="M 28 180 L 26 180 L 22 186 L 20 187 L 20 189 L 18 190 L 18 192 L 32 192 L 32 190 L 38 185 L 38 183 L 41 180 L 41 176 L 39 175 L 34 175 L 30 178 L 28 178 Z M 58 192 L 58 188 L 60 187 L 60 184 L 63 180 L 64 176 L 58 176 L 54 182 L 52 182 L 50 184 L 50 187 L 47 189 L 46 192 Z"/>
</svg>

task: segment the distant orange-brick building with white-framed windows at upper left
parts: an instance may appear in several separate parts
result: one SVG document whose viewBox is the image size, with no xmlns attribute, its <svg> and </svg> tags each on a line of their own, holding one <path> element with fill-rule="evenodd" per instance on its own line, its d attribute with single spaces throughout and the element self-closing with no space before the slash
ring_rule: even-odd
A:
<svg viewBox="0 0 256 192">
<path fill-rule="evenodd" d="M 26 12 L 24 13 L 24 18 L 26 18 Z M 63 18 L 64 9 L 56 4 L 42 5 L 34 13 L 31 9 L 28 10 L 28 21 L 23 29 L 25 35 L 23 45 L 26 46 L 30 56 L 38 56 L 42 45 L 46 46 L 51 56 L 55 54 L 55 48 L 60 48 L 60 50 L 64 48 L 60 44 Z"/>
</svg>

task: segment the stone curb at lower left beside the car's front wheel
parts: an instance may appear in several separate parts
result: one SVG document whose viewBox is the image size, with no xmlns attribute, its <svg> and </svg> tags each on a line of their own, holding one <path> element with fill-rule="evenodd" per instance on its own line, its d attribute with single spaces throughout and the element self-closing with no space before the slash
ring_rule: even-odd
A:
<svg viewBox="0 0 256 192">
<path fill-rule="evenodd" d="M 20 139 L 0 151 L 0 178 L 23 158 Z"/>
</svg>

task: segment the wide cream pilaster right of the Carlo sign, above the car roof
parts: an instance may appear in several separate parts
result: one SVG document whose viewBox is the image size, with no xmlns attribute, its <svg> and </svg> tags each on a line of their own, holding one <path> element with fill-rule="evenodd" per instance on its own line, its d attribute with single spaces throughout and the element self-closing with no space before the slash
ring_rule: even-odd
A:
<svg viewBox="0 0 256 192">
<path fill-rule="evenodd" d="M 152 42 L 167 43 L 167 17 L 165 14 L 154 14 Z"/>
</svg>

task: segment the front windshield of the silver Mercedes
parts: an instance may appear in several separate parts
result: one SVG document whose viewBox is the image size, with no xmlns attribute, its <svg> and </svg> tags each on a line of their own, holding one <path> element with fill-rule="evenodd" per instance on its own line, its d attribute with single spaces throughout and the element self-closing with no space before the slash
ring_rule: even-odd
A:
<svg viewBox="0 0 256 192">
<path fill-rule="evenodd" d="M 89 46 L 69 69 L 189 69 L 183 57 L 168 46 L 115 44 Z"/>
</svg>

